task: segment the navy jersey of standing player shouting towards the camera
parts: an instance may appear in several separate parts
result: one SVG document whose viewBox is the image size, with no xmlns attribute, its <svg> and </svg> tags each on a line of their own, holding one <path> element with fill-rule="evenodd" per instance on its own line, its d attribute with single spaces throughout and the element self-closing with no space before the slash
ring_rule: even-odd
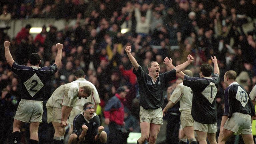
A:
<svg viewBox="0 0 256 144">
<path fill-rule="evenodd" d="M 144 109 L 158 109 L 163 106 L 163 92 L 166 91 L 168 83 L 176 79 L 176 70 L 172 69 L 169 72 L 160 74 L 155 84 L 149 74 L 142 70 L 141 66 L 139 66 L 137 71 L 134 68 L 133 73 L 137 76 L 139 83 L 140 106 Z"/>
</svg>

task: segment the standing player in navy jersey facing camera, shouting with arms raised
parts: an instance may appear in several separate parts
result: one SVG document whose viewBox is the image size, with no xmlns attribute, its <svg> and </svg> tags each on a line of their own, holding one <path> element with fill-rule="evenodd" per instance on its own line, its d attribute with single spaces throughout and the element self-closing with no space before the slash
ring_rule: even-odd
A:
<svg viewBox="0 0 256 144">
<path fill-rule="evenodd" d="M 156 61 L 148 64 L 149 73 L 145 73 L 131 53 L 131 46 L 126 46 L 125 51 L 134 66 L 133 72 L 137 77 L 140 94 L 140 129 L 141 137 L 137 144 L 143 144 L 149 137 L 149 143 L 155 144 L 158 132 L 163 124 L 163 112 L 161 106 L 164 103 L 163 91 L 171 80 L 176 79 L 176 73 L 186 68 L 193 56 L 188 55 L 187 61 L 174 69 L 159 74 L 160 66 Z"/>
</svg>

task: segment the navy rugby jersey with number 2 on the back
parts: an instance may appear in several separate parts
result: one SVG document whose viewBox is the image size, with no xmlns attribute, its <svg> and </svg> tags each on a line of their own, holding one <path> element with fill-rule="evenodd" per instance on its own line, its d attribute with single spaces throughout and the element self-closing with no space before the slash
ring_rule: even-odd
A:
<svg viewBox="0 0 256 144">
<path fill-rule="evenodd" d="M 14 62 L 12 71 L 19 76 L 22 83 L 21 99 L 43 100 L 46 91 L 45 84 L 57 72 L 57 65 L 52 64 L 49 67 L 40 68 L 19 65 Z"/>
</svg>

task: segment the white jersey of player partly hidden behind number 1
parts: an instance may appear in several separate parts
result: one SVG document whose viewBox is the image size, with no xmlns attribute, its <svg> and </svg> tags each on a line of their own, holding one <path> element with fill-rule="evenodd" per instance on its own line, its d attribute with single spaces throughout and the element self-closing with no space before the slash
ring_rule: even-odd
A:
<svg viewBox="0 0 256 144">
<path fill-rule="evenodd" d="M 169 100 L 173 103 L 180 101 L 180 112 L 183 110 L 190 110 L 192 107 L 192 90 L 190 87 L 184 86 L 183 82 L 178 84 L 170 96 Z"/>
</svg>

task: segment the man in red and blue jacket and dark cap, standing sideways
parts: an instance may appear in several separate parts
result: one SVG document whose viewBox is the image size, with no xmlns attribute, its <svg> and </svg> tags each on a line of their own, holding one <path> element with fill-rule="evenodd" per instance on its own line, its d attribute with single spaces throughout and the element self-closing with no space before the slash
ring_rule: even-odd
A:
<svg viewBox="0 0 256 144">
<path fill-rule="evenodd" d="M 115 96 L 109 99 L 105 106 L 104 116 L 105 123 L 109 127 L 108 144 L 121 144 L 124 143 L 122 137 L 122 130 L 124 130 L 124 105 L 123 101 L 129 89 L 119 87 Z"/>
</svg>

